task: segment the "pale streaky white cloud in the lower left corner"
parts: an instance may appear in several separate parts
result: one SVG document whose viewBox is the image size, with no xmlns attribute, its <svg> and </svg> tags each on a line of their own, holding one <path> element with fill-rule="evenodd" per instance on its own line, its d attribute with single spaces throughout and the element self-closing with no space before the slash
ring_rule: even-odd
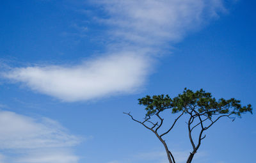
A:
<svg viewBox="0 0 256 163">
<path fill-rule="evenodd" d="M 71 147 L 77 143 L 56 121 L 0 111 L 0 162 L 76 163 Z"/>
</svg>

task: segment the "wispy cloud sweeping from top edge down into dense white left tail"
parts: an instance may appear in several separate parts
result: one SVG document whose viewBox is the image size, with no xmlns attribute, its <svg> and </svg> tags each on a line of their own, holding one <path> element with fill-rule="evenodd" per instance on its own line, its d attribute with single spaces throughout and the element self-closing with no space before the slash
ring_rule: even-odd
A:
<svg viewBox="0 0 256 163">
<path fill-rule="evenodd" d="M 152 54 L 225 12 L 222 0 L 100 0 L 93 4 L 107 15 L 94 19 L 109 27 L 108 51 L 102 57 L 76 66 L 13 68 L 3 76 L 66 102 L 134 93 L 152 70 Z"/>
</svg>

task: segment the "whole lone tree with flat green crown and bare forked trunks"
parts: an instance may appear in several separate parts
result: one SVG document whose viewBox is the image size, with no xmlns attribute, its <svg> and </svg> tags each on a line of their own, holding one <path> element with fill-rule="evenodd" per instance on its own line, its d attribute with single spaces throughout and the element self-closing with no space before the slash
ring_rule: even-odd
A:
<svg viewBox="0 0 256 163">
<path fill-rule="evenodd" d="M 147 111 L 143 121 L 134 119 L 130 113 L 124 114 L 129 115 L 133 121 L 140 123 L 156 135 L 163 144 L 170 163 L 175 163 L 175 159 L 163 136 L 172 131 L 182 116 L 184 116 L 188 125 L 188 137 L 192 146 L 192 151 L 189 153 L 187 160 L 187 163 L 190 163 L 205 138 L 204 132 L 220 118 L 227 117 L 234 121 L 236 116 L 241 118 L 242 113 L 252 113 L 252 105 L 250 104 L 242 106 L 241 101 L 235 98 L 216 100 L 211 93 L 205 93 L 203 89 L 193 92 L 185 88 L 182 94 L 174 98 L 170 98 L 168 95 L 154 95 L 153 97 L 147 95 L 139 98 L 138 101 L 140 105 L 145 106 L 145 111 Z M 163 127 L 164 123 L 163 115 L 161 115 L 164 112 L 178 115 L 164 132 L 159 133 L 159 128 Z M 195 131 L 197 133 L 194 133 Z"/>
</svg>

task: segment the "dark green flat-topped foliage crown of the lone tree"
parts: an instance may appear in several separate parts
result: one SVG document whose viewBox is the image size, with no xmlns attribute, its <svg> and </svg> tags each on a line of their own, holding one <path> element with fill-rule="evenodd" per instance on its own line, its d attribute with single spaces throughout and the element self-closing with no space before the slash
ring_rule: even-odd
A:
<svg viewBox="0 0 256 163">
<path fill-rule="evenodd" d="M 182 94 L 170 98 L 168 95 L 146 96 L 138 99 L 140 105 L 145 105 L 146 116 L 159 114 L 166 109 L 172 109 L 172 113 L 198 113 L 211 118 L 213 115 L 236 115 L 241 113 L 252 113 L 252 105 L 242 106 L 240 100 L 230 98 L 225 100 L 220 98 L 216 100 L 211 93 L 205 93 L 203 89 L 193 92 L 190 89 L 184 89 Z"/>
</svg>

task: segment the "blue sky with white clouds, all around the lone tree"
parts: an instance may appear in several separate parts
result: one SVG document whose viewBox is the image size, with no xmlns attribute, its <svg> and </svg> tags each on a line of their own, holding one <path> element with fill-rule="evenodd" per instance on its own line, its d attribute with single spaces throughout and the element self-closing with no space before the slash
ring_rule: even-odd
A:
<svg viewBox="0 0 256 163">
<path fill-rule="evenodd" d="M 254 1 L 2 1 L 0 163 L 166 162 L 138 98 L 184 88 L 255 103 Z M 174 117 L 173 117 L 174 118 Z M 221 120 L 195 162 L 252 162 L 255 115 Z M 179 121 L 166 142 L 186 162 Z"/>
</svg>

